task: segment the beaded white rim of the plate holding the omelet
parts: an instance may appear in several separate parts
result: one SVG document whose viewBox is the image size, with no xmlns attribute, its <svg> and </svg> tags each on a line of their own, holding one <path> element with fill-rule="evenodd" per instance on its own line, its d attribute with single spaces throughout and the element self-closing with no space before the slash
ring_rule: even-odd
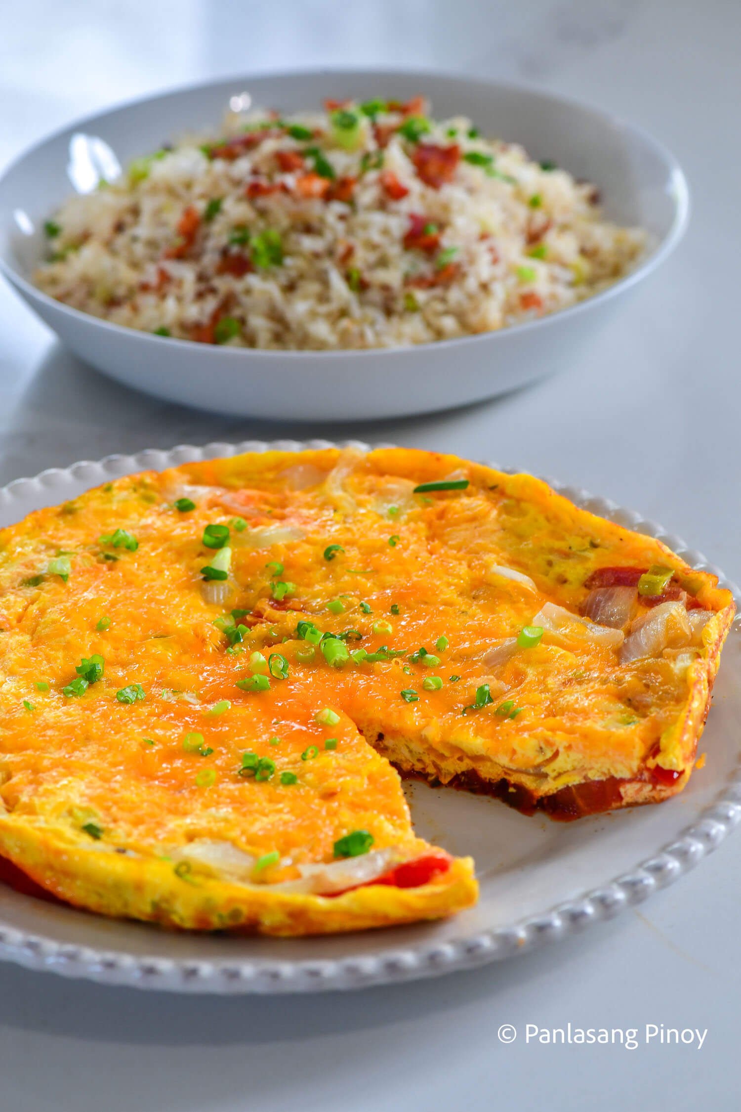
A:
<svg viewBox="0 0 741 1112">
<path fill-rule="evenodd" d="M 48 494 L 57 487 L 80 481 L 98 483 L 138 470 L 179 466 L 187 461 L 234 456 L 243 451 L 301 451 L 317 448 L 395 447 L 387 443 L 364 440 L 246 440 L 241 443 L 210 441 L 202 446 L 179 444 L 170 449 L 146 448 L 126 455 L 117 453 L 99 460 L 79 460 L 66 468 L 51 467 L 28 478 L 13 479 L 0 487 L 3 509 L 22 505 L 31 495 Z M 507 474 L 517 468 L 501 467 L 490 460 L 487 466 Z M 589 509 L 619 524 L 647 534 L 668 545 L 688 564 L 717 575 L 721 586 L 730 589 L 741 604 L 741 588 L 697 549 L 668 534 L 657 522 L 642 517 L 609 498 L 594 496 L 583 487 L 560 483 L 550 476 L 544 480 L 559 494 L 580 508 Z M 29 510 L 24 510 L 23 516 Z M 741 634 L 741 616 L 733 620 L 730 636 Z M 445 942 L 412 942 L 390 951 L 324 960 L 276 960 L 240 956 L 233 960 L 188 960 L 137 955 L 117 950 L 103 950 L 84 943 L 63 943 L 42 934 L 8 926 L 0 919 L 0 960 L 13 961 L 27 969 L 49 971 L 68 977 L 80 977 L 101 984 L 158 991 L 240 994 L 298 993 L 327 990 L 360 989 L 370 985 L 399 983 L 437 976 L 455 970 L 474 969 L 493 961 L 527 953 L 548 942 L 575 934 L 593 923 L 614 919 L 622 911 L 642 903 L 659 888 L 673 884 L 712 853 L 741 822 L 741 767 L 737 766 L 721 788 L 721 797 L 704 807 L 680 835 L 638 862 L 629 872 L 599 887 L 545 909 L 542 913 L 515 921 L 510 925 L 478 930 Z M 430 925 L 434 931 L 434 924 Z M 372 940 L 369 932 L 366 937 Z"/>
</svg>

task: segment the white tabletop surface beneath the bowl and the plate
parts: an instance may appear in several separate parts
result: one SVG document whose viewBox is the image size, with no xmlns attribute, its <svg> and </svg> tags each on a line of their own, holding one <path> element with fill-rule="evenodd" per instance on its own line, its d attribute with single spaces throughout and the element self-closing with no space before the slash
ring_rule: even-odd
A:
<svg viewBox="0 0 741 1112">
<path fill-rule="evenodd" d="M 0 3 L 0 165 L 78 115 L 211 76 L 434 66 L 641 122 L 682 161 L 689 235 L 560 379 L 338 428 L 202 416 L 116 386 L 0 289 L 0 483 L 111 451 L 360 436 L 558 476 L 640 508 L 741 578 L 738 0 Z M 467 1112 L 739 1106 L 741 835 L 622 919 L 507 965 L 357 994 L 177 999 L 0 965 L 3 1112 Z M 694 1046 L 501 1045 L 574 1025 L 708 1029 Z"/>
</svg>

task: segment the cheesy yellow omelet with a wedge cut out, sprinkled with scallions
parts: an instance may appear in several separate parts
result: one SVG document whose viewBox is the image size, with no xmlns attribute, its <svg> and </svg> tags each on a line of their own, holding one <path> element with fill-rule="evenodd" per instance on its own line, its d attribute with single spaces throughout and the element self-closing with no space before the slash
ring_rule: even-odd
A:
<svg viewBox="0 0 741 1112">
<path fill-rule="evenodd" d="M 92 912 L 450 915 L 401 775 L 554 818 L 681 791 L 734 607 L 528 475 L 408 449 L 128 476 L 0 532 L 0 856 Z"/>
</svg>

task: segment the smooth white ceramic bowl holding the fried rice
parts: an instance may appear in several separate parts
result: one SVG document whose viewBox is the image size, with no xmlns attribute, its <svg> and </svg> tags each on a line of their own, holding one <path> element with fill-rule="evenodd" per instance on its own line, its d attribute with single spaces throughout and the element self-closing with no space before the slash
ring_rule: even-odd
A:
<svg viewBox="0 0 741 1112">
<path fill-rule="evenodd" d="M 106 176 L 173 136 L 218 126 L 230 97 L 283 112 L 326 97 L 431 98 L 437 116 L 471 117 L 485 135 L 523 143 L 577 178 L 597 183 L 608 218 L 639 225 L 653 246 L 611 288 L 572 308 L 497 332 L 370 351 L 260 351 L 162 339 L 111 325 L 40 292 L 30 275 L 43 221 L 72 191 L 69 168 L 82 143 Z M 91 140 L 103 140 L 106 146 Z M 73 145 L 77 143 L 77 148 Z M 684 176 L 639 128 L 531 89 L 422 71 L 330 70 L 238 77 L 176 90 L 88 117 L 32 148 L 0 179 L 0 268 L 78 356 L 138 389 L 231 415 L 368 419 L 444 409 L 502 394 L 572 365 L 581 345 L 679 242 L 689 214 Z"/>
</svg>

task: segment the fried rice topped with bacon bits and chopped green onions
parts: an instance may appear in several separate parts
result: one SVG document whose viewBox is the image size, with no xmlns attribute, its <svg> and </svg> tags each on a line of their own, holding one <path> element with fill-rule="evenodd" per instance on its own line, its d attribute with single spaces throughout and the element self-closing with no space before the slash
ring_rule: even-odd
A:
<svg viewBox="0 0 741 1112">
<path fill-rule="evenodd" d="M 522 147 L 422 98 L 230 112 L 136 160 L 46 225 L 34 280 L 117 325 L 332 350 L 504 328 L 597 294 L 647 236 Z"/>
</svg>

